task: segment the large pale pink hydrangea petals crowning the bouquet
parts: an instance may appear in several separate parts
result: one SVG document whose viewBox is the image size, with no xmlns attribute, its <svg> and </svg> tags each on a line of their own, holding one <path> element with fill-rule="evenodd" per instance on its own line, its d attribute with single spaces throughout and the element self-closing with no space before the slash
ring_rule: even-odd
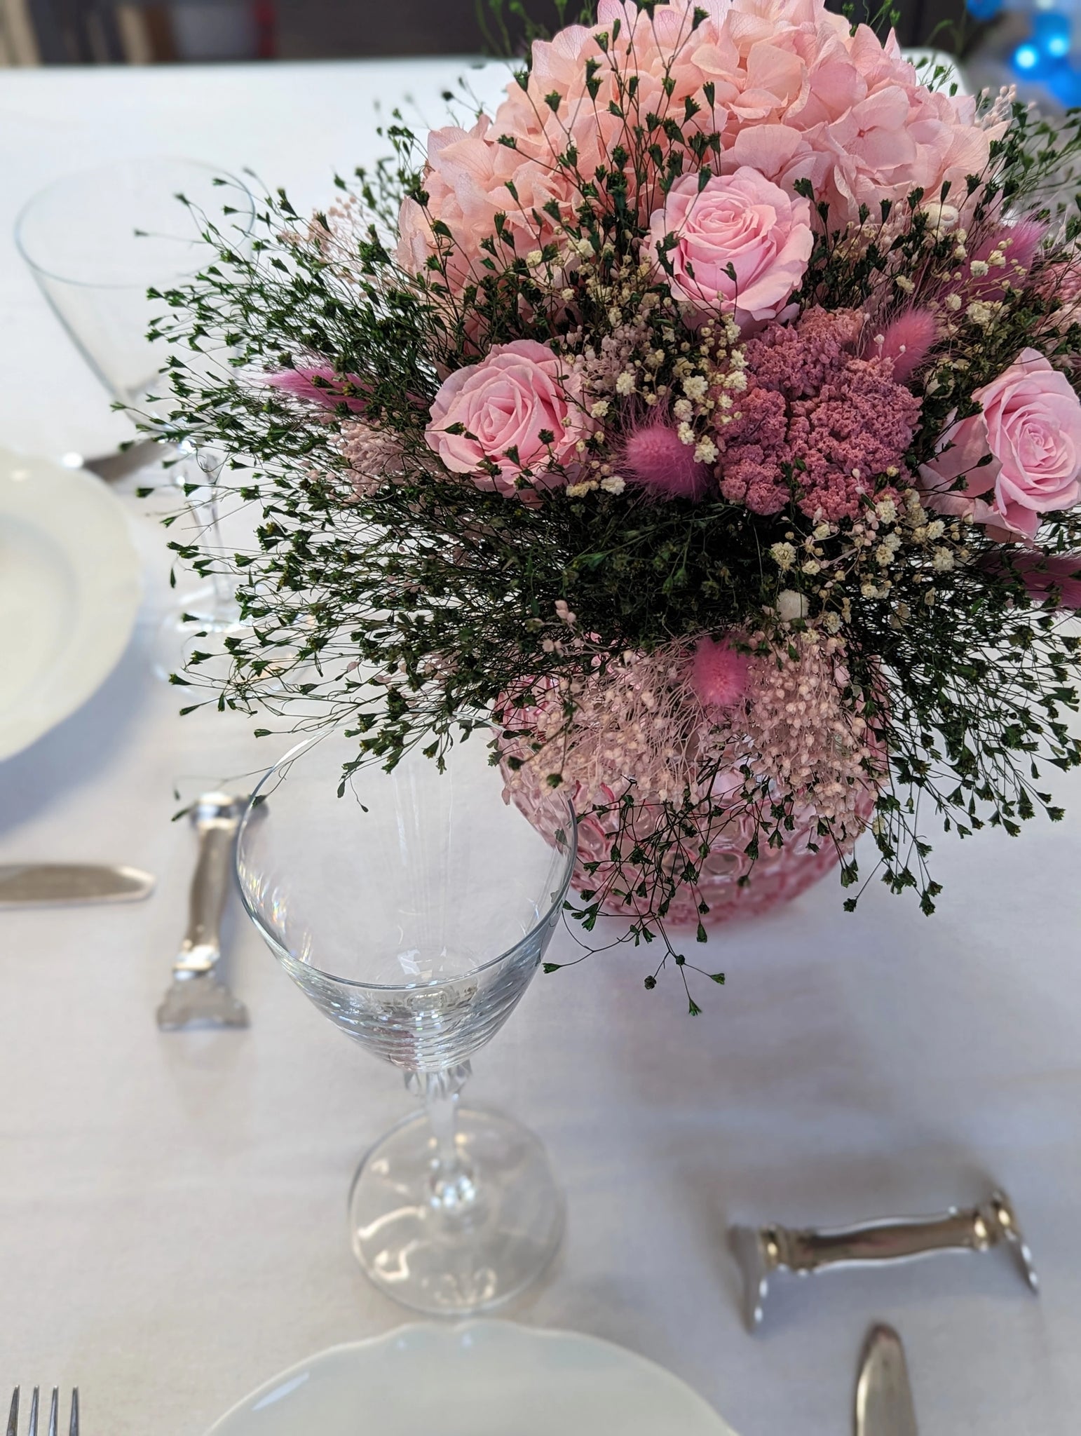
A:
<svg viewBox="0 0 1081 1436">
<path fill-rule="evenodd" d="M 706 13 L 698 26 L 695 10 Z M 593 182 L 626 142 L 620 76 L 632 75 L 636 116 L 653 112 L 678 119 L 685 134 L 719 134 L 722 174 L 749 167 L 788 194 L 810 180 L 830 204 L 831 228 L 856 220 L 861 204 L 877 214 L 881 200 L 903 201 L 916 187 L 937 194 L 949 181 L 963 192 L 966 175 L 986 168 L 995 138 L 975 123 L 973 99 L 920 85 L 893 36 L 881 45 L 867 26 L 853 32 L 821 0 L 670 0 L 652 14 L 633 0 L 600 0 L 594 26 L 534 43 L 525 89 L 513 82 L 494 121 L 481 115 L 468 131 L 432 132 L 428 214 L 405 201 L 401 263 L 416 273 L 434 251 L 429 217 L 454 236 L 457 286 L 479 277 L 479 246 L 494 234 L 497 213 L 520 237 L 518 253 L 558 237 L 543 207 L 554 200 L 571 218 L 579 185 Z M 596 99 L 590 83 L 600 86 Z M 699 109 L 685 121 L 686 101 Z M 656 138 L 672 144 L 660 131 Z M 573 168 L 563 161 L 568 149 Z M 656 184 L 632 194 L 643 225 L 656 194 Z"/>
</svg>

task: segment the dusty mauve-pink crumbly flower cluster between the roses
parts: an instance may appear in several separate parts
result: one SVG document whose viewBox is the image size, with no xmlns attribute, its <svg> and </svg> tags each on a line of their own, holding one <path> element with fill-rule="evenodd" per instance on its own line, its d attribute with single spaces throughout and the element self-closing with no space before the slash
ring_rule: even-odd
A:
<svg viewBox="0 0 1081 1436">
<path fill-rule="evenodd" d="M 904 478 L 920 401 L 886 358 L 860 359 L 863 316 L 807 310 L 747 345 L 747 391 L 718 429 L 721 493 L 777 514 L 795 493 L 815 521 L 856 518 L 883 474 Z"/>
</svg>

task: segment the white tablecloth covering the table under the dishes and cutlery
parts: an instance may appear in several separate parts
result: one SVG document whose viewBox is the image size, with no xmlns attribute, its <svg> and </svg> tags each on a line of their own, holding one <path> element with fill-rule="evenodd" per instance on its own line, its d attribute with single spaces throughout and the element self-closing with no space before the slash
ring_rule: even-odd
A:
<svg viewBox="0 0 1081 1436">
<path fill-rule="evenodd" d="M 378 154 L 383 113 L 428 116 L 462 66 L 347 63 L 0 76 L 0 441 L 93 452 L 125 432 L 10 243 L 39 185 L 109 157 L 251 165 L 297 202 Z M 343 1041 L 233 913 L 247 1032 L 162 1035 L 192 839 L 174 787 L 277 755 L 243 725 L 179 719 L 149 676 L 164 549 L 136 642 L 105 688 L 0 764 L 0 862 L 154 870 L 141 906 L 0 913 L 0 1393 L 75 1383 L 88 1436 L 198 1436 L 280 1367 L 405 1318 L 349 1254 L 360 1150 L 408 1100 Z M 3 675 L 0 675 L 3 682 Z M 1081 783 L 1021 840 L 943 841 L 939 915 L 827 882 L 731 928 L 728 972 L 685 1015 L 620 949 L 538 978 L 477 1061 L 474 1093 L 530 1122 L 568 1195 L 564 1251 L 508 1314 L 670 1366 L 741 1436 L 848 1429 L 867 1324 L 909 1347 L 925 1436 L 1074 1436 L 1081 1410 Z M 553 956 L 571 955 L 564 935 Z M 1012 1193 L 1042 1300 L 999 1256 L 797 1284 L 739 1324 L 731 1219 L 846 1222 Z M 0 1394 L 0 1400 L 3 1400 Z"/>
</svg>

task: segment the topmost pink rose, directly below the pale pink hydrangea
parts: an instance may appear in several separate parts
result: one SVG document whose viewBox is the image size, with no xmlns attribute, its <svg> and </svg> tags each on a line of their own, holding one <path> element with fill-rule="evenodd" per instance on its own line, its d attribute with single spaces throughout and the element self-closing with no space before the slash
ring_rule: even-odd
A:
<svg viewBox="0 0 1081 1436">
<path fill-rule="evenodd" d="M 669 234 L 676 243 L 666 250 Z M 672 266 L 676 299 L 689 300 L 698 317 L 718 309 L 732 313 L 742 330 L 781 313 L 813 246 L 810 202 L 747 165 L 711 175 L 701 191 L 698 175 L 682 175 L 649 230 L 650 253 Z"/>
</svg>

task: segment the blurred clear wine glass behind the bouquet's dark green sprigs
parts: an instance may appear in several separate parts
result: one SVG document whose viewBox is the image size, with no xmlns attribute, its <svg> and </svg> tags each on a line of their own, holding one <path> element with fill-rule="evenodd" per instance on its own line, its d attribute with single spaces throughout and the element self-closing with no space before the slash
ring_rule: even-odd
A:
<svg viewBox="0 0 1081 1436">
<path fill-rule="evenodd" d="M 223 218 L 225 205 L 233 213 Z M 16 220 L 19 251 L 72 343 L 112 398 L 151 424 L 165 425 L 172 401 L 161 375 L 165 353 L 148 339 L 151 320 L 164 306 L 148 290 L 162 293 L 184 283 L 217 257 L 202 238 L 204 217 L 241 248 L 254 225 L 254 200 L 240 180 L 214 165 L 145 157 L 57 180 L 33 195 Z M 214 356 L 185 350 L 192 368 L 214 362 Z M 148 464 L 161 457 L 152 442 L 138 452 Z M 198 485 L 207 495 L 200 501 L 192 493 L 191 514 L 211 554 L 223 551 L 215 497 L 220 467 L 221 455 L 200 449 L 182 451 L 174 468 L 185 488 Z M 218 574 L 185 595 L 167 619 L 155 666 L 168 676 L 194 638 L 215 633 L 223 642 L 240 632 L 238 622 L 235 595 Z"/>
</svg>

